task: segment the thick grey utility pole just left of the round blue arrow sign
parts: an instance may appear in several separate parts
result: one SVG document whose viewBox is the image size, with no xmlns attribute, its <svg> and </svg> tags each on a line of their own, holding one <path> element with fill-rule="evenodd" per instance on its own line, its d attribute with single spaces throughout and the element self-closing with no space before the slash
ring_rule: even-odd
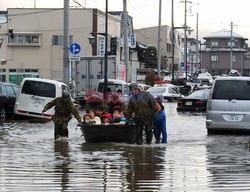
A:
<svg viewBox="0 0 250 192">
<path fill-rule="evenodd" d="M 69 0 L 64 0 L 63 82 L 69 86 Z"/>
</svg>

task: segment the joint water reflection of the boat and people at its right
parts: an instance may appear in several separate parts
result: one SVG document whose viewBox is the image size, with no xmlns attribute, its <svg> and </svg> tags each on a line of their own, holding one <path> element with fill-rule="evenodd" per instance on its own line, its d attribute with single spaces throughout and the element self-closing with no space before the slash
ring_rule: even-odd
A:
<svg viewBox="0 0 250 192">
<path fill-rule="evenodd" d="M 164 184 L 166 147 L 83 144 L 82 150 L 92 156 L 87 164 L 102 175 L 104 191 L 159 191 Z"/>
</svg>

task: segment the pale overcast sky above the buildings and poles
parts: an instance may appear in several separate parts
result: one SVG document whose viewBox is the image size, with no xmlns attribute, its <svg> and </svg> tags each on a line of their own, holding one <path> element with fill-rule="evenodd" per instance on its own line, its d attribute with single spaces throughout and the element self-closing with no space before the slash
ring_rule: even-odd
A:
<svg viewBox="0 0 250 192">
<path fill-rule="evenodd" d="M 70 6 L 77 6 L 70 0 Z M 188 0 L 191 2 L 190 0 Z M 0 10 L 7 8 L 62 8 L 64 0 L 0 0 Z M 83 7 L 105 10 L 105 0 L 77 0 Z M 122 11 L 123 0 L 108 0 L 109 11 Z M 174 0 L 175 26 L 184 24 L 184 3 Z M 234 32 L 250 39 L 248 17 L 250 0 L 192 0 L 187 3 L 187 25 L 196 30 L 199 14 L 199 38 L 222 28 L 230 30 L 230 22 L 236 25 Z M 157 26 L 159 0 L 127 0 L 127 10 L 133 17 L 134 27 Z M 162 0 L 162 25 L 171 25 L 171 0 Z M 195 32 L 191 35 L 195 36 Z"/>
</svg>

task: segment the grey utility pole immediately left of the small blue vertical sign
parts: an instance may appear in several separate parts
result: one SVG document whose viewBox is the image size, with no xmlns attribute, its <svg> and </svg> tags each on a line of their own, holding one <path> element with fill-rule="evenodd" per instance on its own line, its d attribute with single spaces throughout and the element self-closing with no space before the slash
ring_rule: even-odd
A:
<svg viewBox="0 0 250 192">
<path fill-rule="evenodd" d="M 127 12 L 127 0 L 123 0 L 123 51 L 124 51 L 124 64 L 127 71 L 127 82 L 131 81 L 131 69 L 128 63 L 129 48 L 128 48 L 128 12 Z"/>
</svg>

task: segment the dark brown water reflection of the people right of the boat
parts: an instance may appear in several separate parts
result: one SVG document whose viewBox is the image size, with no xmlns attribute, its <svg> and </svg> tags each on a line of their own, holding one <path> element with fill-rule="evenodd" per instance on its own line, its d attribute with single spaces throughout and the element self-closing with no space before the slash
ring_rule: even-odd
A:
<svg viewBox="0 0 250 192">
<path fill-rule="evenodd" d="M 126 150 L 129 191 L 159 191 L 164 183 L 165 155 L 165 147 L 134 147 Z"/>
</svg>

